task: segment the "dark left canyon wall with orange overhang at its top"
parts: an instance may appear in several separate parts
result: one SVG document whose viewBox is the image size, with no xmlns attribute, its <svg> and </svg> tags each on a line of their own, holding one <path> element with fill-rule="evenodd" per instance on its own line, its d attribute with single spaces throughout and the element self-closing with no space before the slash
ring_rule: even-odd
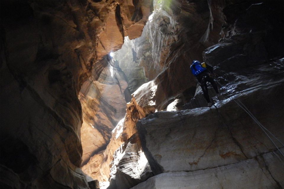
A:
<svg viewBox="0 0 284 189">
<path fill-rule="evenodd" d="M 89 188 L 81 85 L 141 35 L 151 4 L 1 1 L 1 188 Z"/>
</svg>

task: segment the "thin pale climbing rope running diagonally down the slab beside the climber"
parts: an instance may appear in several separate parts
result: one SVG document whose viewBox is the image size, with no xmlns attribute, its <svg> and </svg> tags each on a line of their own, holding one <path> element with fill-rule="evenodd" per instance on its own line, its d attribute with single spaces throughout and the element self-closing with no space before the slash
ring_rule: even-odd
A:
<svg viewBox="0 0 284 189">
<path fill-rule="evenodd" d="M 217 83 L 225 88 L 216 78 L 214 78 Z M 232 94 L 230 94 L 229 92 L 227 92 L 227 90 L 225 90 L 225 92 L 230 96 L 232 97 Z M 284 154 L 282 153 L 282 151 L 280 151 L 280 149 L 276 146 L 275 142 L 271 139 L 271 137 L 267 134 L 270 133 L 283 147 L 284 147 L 284 144 L 277 139 L 277 137 L 275 137 L 267 128 L 265 128 L 257 119 L 256 117 L 249 111 L 249 109 L 238 99 L 235 99 L 235 98 L 232 98 L 234 102 L 236 102 L 237 105 L 239 105 L 246 113 L 249 114 L 249 116 L 256 122 L 256 124 L 262 129 L 262 131 L 264 131 L 264 133 L 268 136 L 268 138 L 270 139 L 270 141 L 272 141 L 272 143 L 274 144 L 274 146 L 277 148 L 277 150 L 280 152 L 280 154 L 282 154 L 282 156 L 284 157 Z M 267 132 L 266 132 L 266 131 Z"/>
</svg>

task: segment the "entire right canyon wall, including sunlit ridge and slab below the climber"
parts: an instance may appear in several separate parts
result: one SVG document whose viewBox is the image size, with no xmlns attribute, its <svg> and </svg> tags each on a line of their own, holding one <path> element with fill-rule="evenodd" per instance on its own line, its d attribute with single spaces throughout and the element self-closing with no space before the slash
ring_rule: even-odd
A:
<svg viewBox="0 0 284 189">
<path fill-rule="evenodd" d="M 94 179 L 109 180 L 109 188 L 130 188 L 143 182 L 145 175 L 156 176 L 137 188 L 206 188 L 212 183 L 215 188 L 283 187 L 283 157 L 234 104 L 234 99 L 243 101 L 283 143 L 283 2 L 162 1 L 151 17 L 142 36 L 132 43 L 139 65 L 152 80 L 132 94 L 125 118 L 113 130 L 106 150 L 93 156 L 83 171 Z M 206 101 L 189 74 L 194 59 L 215 66 L 225 86 L 222 95 L 228 100 L 218 102 L 209 88 L 218 103 L 212 109 L 200 108 Z M 193 110 L 180 111 L 184 108 Z M 178 112 L 154 113 L 161 110 Z M 278 112 L 280 116 L 272 123 Z M 137 132 L 142 141 L 127 148 Z M 201 140 L 207 134 L 210 137 Z M 141 163 L 144 171 L 138 171 L 138 159 L 144 155 L 151 170 L 148 163 Z M 202 158 L 207 164 L 199 165 Z M 241 174 L 243 169 L 246 174 Z M 196 183 L 195 174 L 200 175 Z M 209 176 L 212 174 L 215 177 Z M 227 180 L 218 178 L 224 174 L 228 174 Z M 234 174 L 240 176 L 234 178 Z M 258 180 L 262 177 L 266 179 Z M 248 183 L 249 179 L 256 181 Z"/>
</svg>

